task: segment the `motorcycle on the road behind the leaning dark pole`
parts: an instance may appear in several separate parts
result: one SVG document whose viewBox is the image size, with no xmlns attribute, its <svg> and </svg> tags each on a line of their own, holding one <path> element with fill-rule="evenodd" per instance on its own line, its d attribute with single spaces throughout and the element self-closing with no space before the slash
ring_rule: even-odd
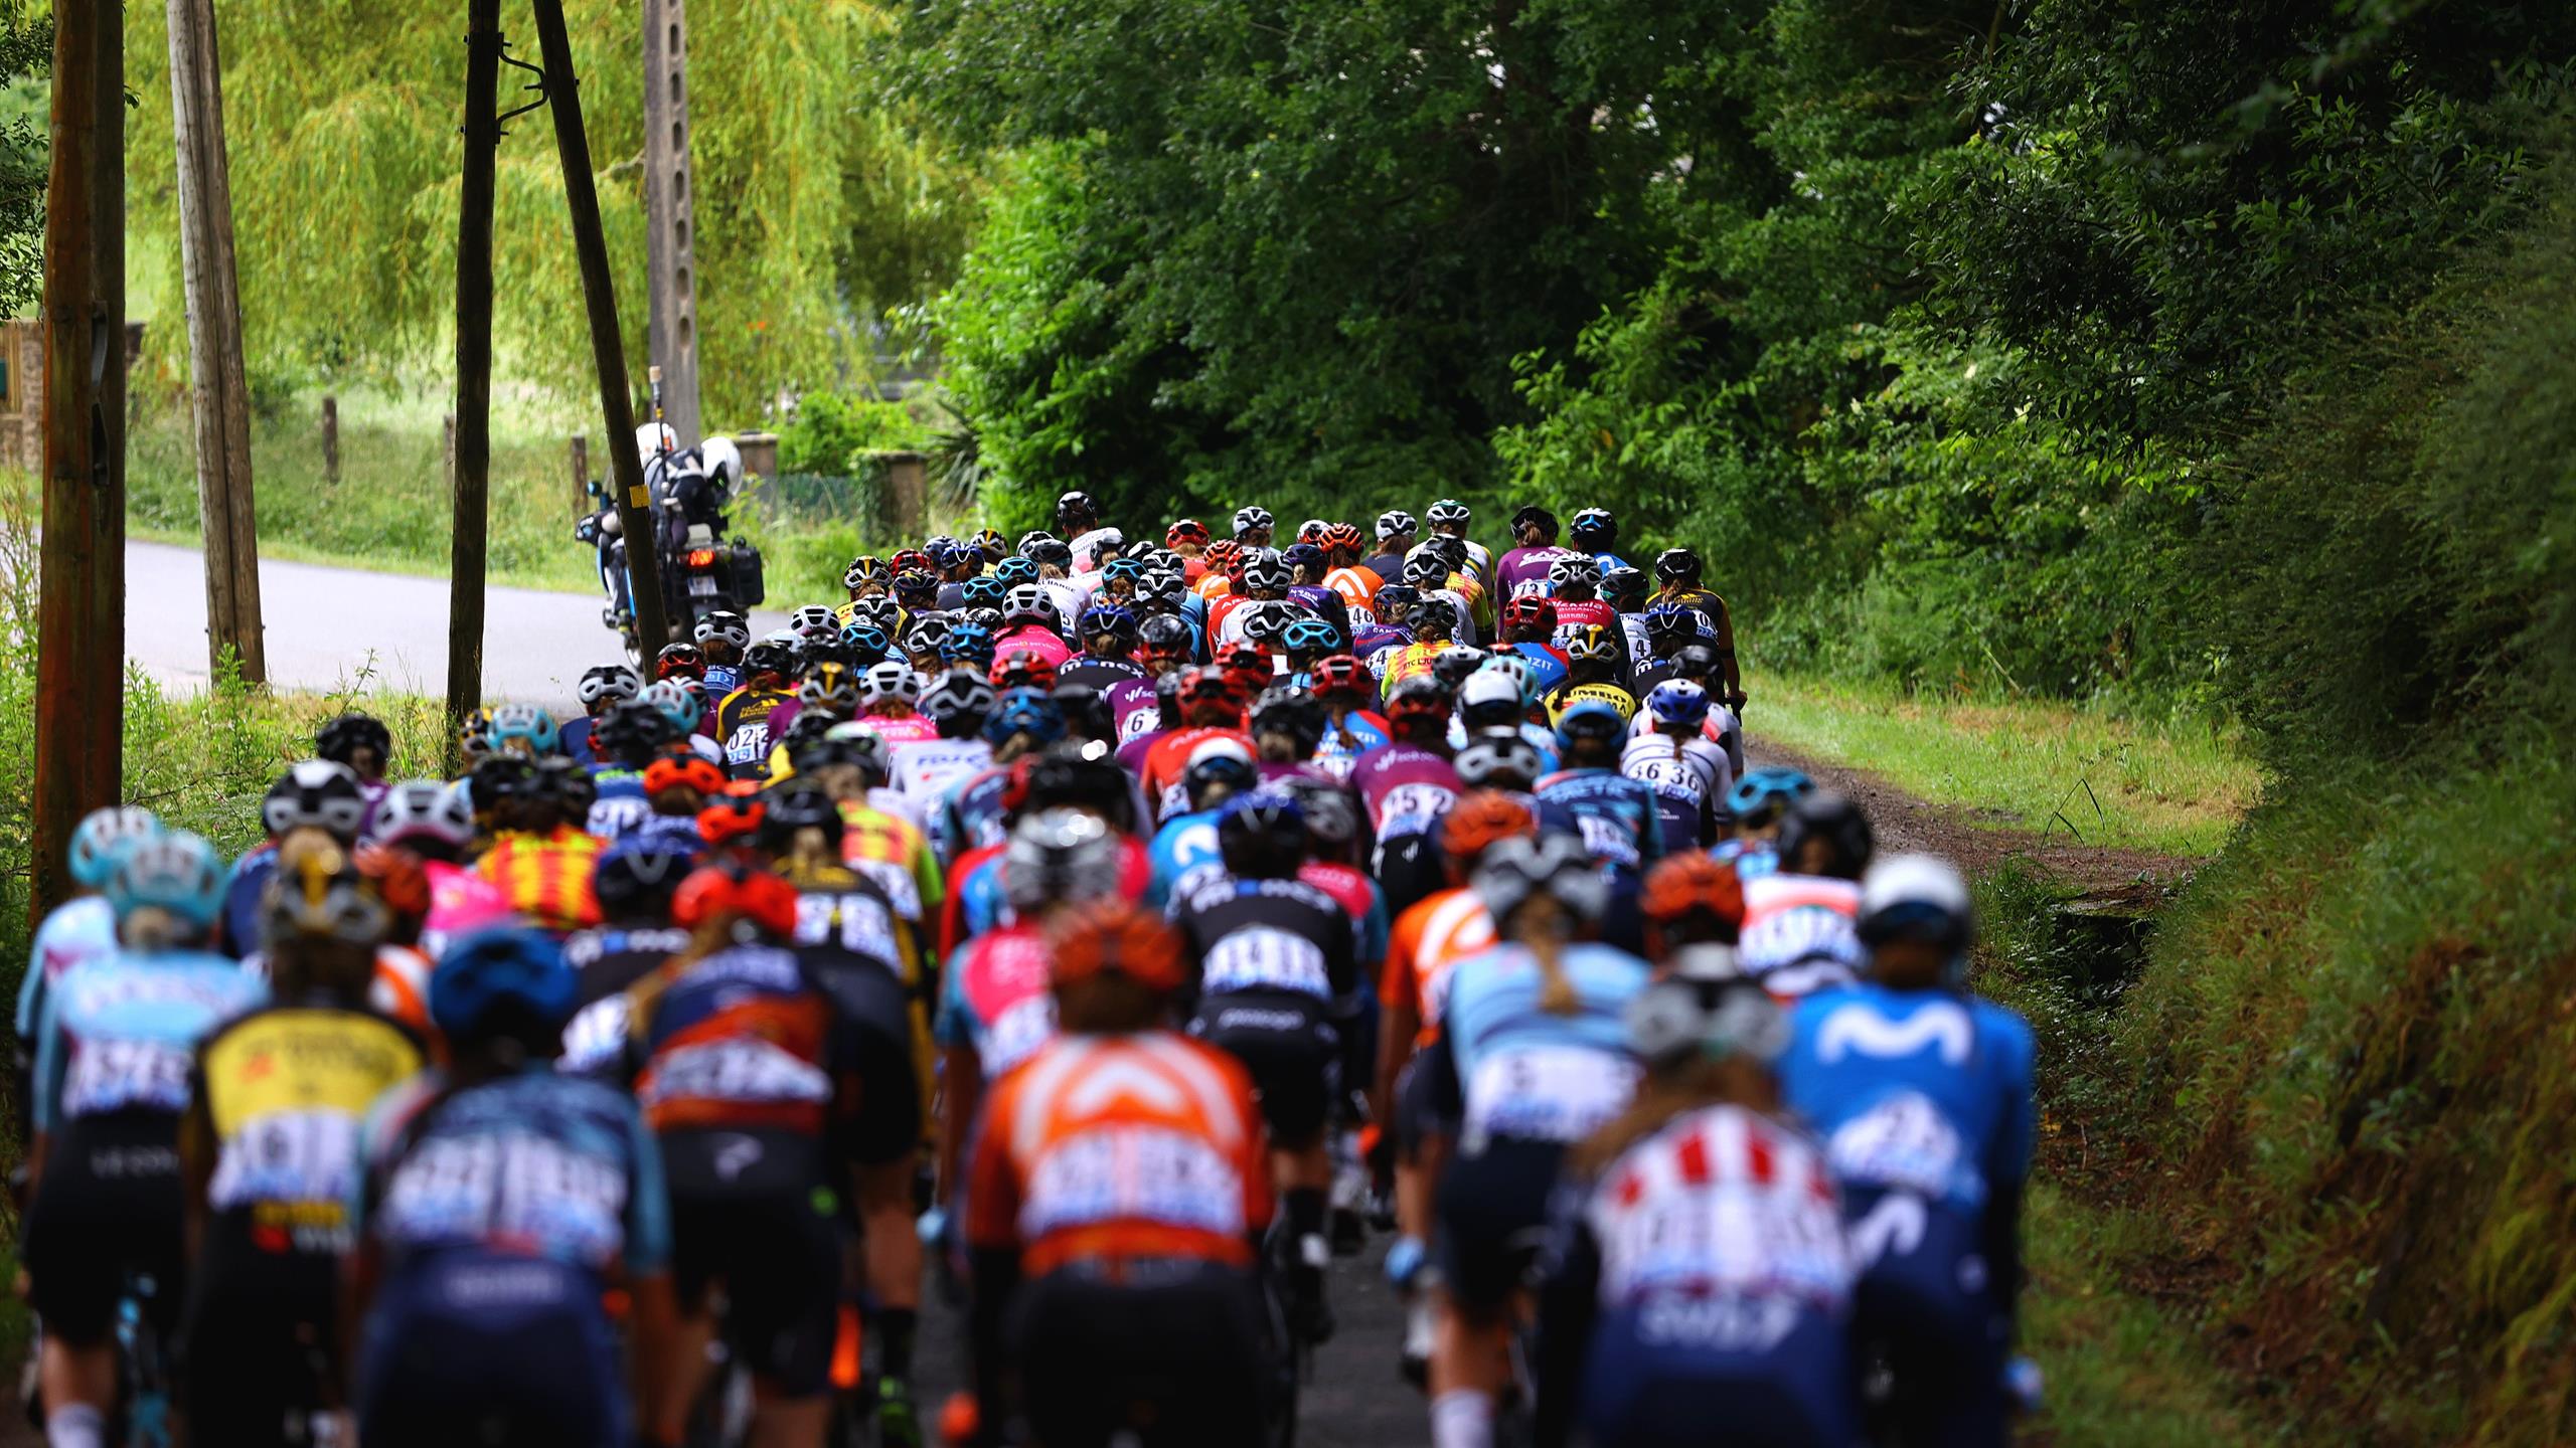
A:
<svg viewBox="0 0 2576 1448">
<path fill-rule="evenodd" d="M 672 636 L 688 639 L 696 621 L 708 613 L 760 608 L 768 598 L 760 549 L 750 538 L 726 538 L 724 505 L 732 502 L 734 482 L 742 477 L 742 453 L 726 438 L 675 448 L 667 428 L 647 425 L 641 433 L 662 618 L 670 621 Z M 598 549 L 600 593 L 608 600 L 600 621 L 626 644 L 629 662 L 649 670 L 652 660 L 636 639 L 634 577 L 626 569 L 631 538 L 611 508 L 608 487 L 590 479 L 587 490 L 600 508 L 577 520 L 572 536 Z"/>
</svg>

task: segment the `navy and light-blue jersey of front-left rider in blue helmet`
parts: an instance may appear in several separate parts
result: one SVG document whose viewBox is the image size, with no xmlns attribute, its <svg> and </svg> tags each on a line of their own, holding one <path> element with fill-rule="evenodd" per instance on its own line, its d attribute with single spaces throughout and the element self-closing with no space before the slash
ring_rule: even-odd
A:
<svg viewBox="0 0 2576 1448">
<path fill-rule="evenodd" d="M 399 1270 L 464 1250 L 538 1257 L 605 1281 L 670 1265 L 662 1154 L 634 1098 L 531 1067 L 448 1092 L 438 1072 L 397 1087 L 358 1136 L 350 1221 Z"/>
</svg>

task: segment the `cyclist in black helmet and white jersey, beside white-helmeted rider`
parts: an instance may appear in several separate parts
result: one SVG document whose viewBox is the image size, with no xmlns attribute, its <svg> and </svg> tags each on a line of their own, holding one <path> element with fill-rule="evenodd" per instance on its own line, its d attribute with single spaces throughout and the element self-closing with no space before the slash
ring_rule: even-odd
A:
<svg viewBox="0 0 2576 1448">
<path fill-rule="evenodd" d="M 1862 966 L 1852 922 L 1870 868 L 1870 817 L 1814 791 L 1780 819 L 1780 866 L 1744 881 L 1744 974 L 1780 1000 L 1850 982 Z"/>
</svg>

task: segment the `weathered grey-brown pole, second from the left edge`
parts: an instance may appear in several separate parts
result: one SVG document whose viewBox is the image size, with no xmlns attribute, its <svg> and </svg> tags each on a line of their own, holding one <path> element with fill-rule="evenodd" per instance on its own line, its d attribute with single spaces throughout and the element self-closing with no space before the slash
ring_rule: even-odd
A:
<svg viewBox="0 0 2576 1448">
<path fill-rule="evenodd" d="M 196 402 L 196 495 L 206 523 L 206 652 L 245 683 L 268 683 L 260 629 L 260 536 L 250 502 L 250 384 L 242 286 L 232 258 L 232 165 L 224 157 L 224 62 L 214 0 L 170 0 L 170 134 L 178 139 L 178 250 L 188 289 L 188 381 Z"/>
</svg>

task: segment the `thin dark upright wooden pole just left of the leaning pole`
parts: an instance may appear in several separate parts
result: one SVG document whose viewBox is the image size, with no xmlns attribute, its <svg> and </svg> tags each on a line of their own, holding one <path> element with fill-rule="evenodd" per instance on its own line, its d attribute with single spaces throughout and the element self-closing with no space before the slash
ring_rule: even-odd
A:
<svg viewBox="0 0 2576 1448">
<path fill-rule="evenodd" d="M 456 229 L 456 415 L 448 456 L 448 737 L 482 709 L 484 531 L 492 523 L 492 167 L 500 155 L 500 0 L 466 8 L 466 170 Z"/>
</svg>

